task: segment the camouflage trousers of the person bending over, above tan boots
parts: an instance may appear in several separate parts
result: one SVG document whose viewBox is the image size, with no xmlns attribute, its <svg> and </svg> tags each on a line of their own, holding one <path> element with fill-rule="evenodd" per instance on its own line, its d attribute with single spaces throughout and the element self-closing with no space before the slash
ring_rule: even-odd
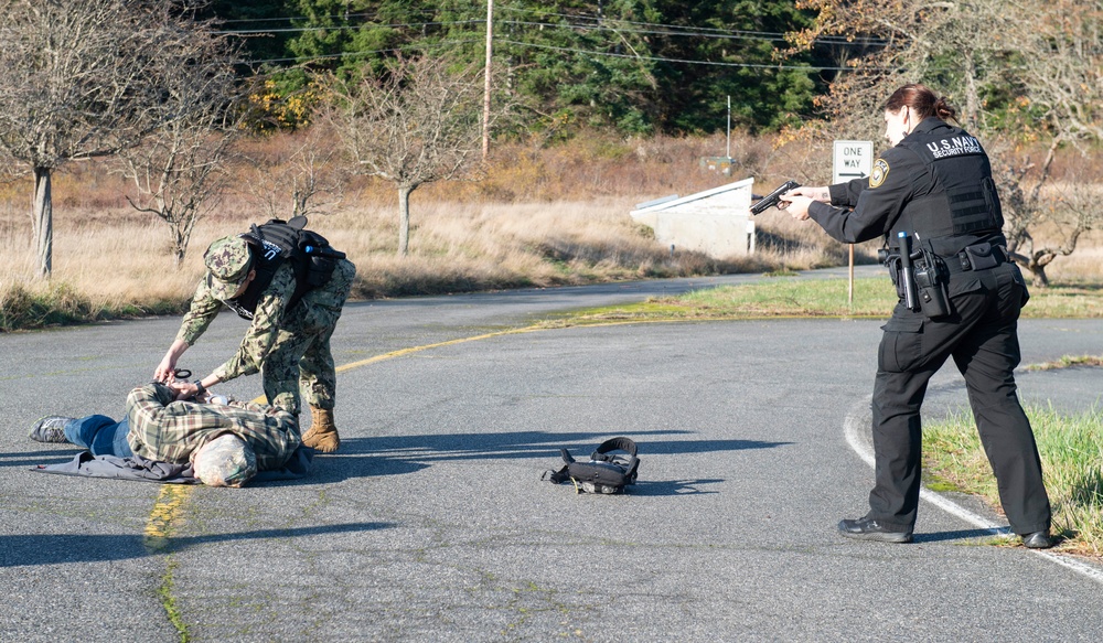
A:
<svg viewBox="0 0 1103 643">
<path fill-rule="evenodd" d="M 311 406 L 333 408 L 338 376 L 330 337 L 355 276 L 356 266 L 339 260 L 329 282 L 304 294 L 283 315 L 279 335 L 260 369 L 268 404 L 298 416 L 301 392 Z"/>
</svg>

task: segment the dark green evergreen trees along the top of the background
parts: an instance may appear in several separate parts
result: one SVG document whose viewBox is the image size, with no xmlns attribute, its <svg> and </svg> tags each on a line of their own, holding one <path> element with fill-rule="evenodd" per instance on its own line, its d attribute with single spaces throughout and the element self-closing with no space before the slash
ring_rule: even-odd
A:
<svg viewBox="0 0 1103 643">
<path fill-rule="evenodd" d="M 298 31 L 270 42 L 285 42 L 282 57 L 308 69 L 377 76 L 396 57 L 442 56 L 459 68 L 485 55 L 484 2 L 285 2 Z M 279 3 L 221 0 L 214 10 L 268 15 L 261 6 Z M 789 46 L 783 33 L 807 25 L 781 0 L 496 0 L 493 49 L 506 89 L 534 115 L 529 127 L 716 131 L 731 96 L 737 125 L 773 129 L 812 114 L 814 54 L 777 55 Z M 306 74 L 285 76 L 279 90 L 307 83 Z"/>
</svg>

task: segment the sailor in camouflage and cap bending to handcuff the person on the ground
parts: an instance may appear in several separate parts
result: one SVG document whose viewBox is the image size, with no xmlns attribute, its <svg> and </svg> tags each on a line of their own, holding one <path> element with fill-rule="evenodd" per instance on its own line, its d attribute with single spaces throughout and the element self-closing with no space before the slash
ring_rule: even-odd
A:
<svg viewBox="0 0 1103 643">
<path fill-rule="evenodd" d="M 195 382 L 194 393 L 260 372 L 265 395 L 272 406 L 298 417 L 300 393 L 307 397 L 312 426 L 303 436 L 303 444 L 333 452 L 340 438 L 333 424 L 336 371 L 330 337 L 352 289 L 356 267 L 346 259 L 333 259 L 328 279 L 319 286 L 307 286 L 304 269 L 298 261 L 310 261 L 310 257 L 282 260 L 277 256 L 279 248 L 269 246 L 250 244 L 240 235 L 211 244 L 203 257 L 207 272 L 154 377 L 160 382 L 173 378 L 180 355 L 226 304 L 250 320 L 249 329 L 229 360 Z"/>
</svg>

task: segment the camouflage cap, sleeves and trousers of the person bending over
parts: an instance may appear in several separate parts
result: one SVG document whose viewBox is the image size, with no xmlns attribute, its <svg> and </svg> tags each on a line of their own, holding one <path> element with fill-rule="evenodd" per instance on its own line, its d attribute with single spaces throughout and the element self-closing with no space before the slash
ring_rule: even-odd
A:
<svg viewBox="0 0 1103 643">
<path fill-rule="evenodd" d="M 224 301 L 248 274 L 248 246 L 227 239 L 234 237 L 216 240 L 207 250 L 208 272 L 200 280 L 191 309 L 176 333 L 176 339 L 189 346 L 206 331 Z M 310 290 L 289 308 L 296 278 L 291 262 L 285 261 L 260 294 L 237 353 L 215 368 L 213 375 L 226 382 L 259 371 L 269 404 L 298 416 L 301 390 L 311 406 L 332 410 L 336 372 L 330 336 L 355 276 L 356 267 L 339 259 L 326 283 Z"/>
</svg>

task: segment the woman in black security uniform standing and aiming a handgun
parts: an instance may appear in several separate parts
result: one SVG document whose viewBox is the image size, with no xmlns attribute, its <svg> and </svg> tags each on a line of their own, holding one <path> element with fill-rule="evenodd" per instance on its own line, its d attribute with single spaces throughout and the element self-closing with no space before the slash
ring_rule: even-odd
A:
<svg viewBox="0 0 1103 643">
<path fill-rule="evenodd" d="M 906 85 L 886 103 L 885 137 L 892 147 L 874 162 L 868 179 L 797 187 L 783 197 L 793 218 L 811 217 L 840 242 L 885 236 L 901 294 L 878 350 L 869 512 L 842 521 L 838 529 L 866 540 L 911 540 L 920 490 L 920 407 L 928 382 L 953 357 L 1011 529 L 1027 547 L 1050 547 L 1049 496 L 1013 373 L 1020 357 L 1019 309 L 1029 294 L 1007 256 L 988 157 L 976 138 L 946 119 L 956 120 L 956 111 L 945 98 Z M 907 278 L 901 247 L 913 257 Z M 909 281 L 913 288 L 906 288 Z"/>
</svg>

